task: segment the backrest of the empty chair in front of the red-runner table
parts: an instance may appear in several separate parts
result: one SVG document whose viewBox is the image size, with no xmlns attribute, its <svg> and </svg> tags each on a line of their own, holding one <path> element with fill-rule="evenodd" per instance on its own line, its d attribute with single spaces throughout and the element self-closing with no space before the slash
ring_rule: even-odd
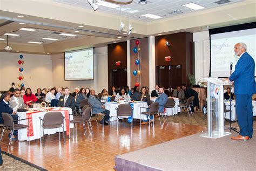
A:
<svg viewBox="0 0 256 171">
<path fill-rule="evenodd" d="M 43 126 L 63 124 L 63 116 L 61 112 L 48 112 L 44 115 Z"/>
</svg>

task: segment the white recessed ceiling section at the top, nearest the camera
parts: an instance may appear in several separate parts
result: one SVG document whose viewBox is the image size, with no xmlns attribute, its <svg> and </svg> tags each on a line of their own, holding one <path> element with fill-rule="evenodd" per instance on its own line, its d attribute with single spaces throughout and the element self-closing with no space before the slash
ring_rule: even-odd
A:
<svg viewBox="0 0 256 171">
<path fill-rule="evenodd" d="M 80 8 L 91 9 L 93 11 L 93 9 L 91 8 L 91 6 L 87 2 L 87 0 L 52 0 L 52 1 L 59 2 L 59 3 L 65 3 L 65 4 L 69 4 L 69 5 L 73 5 L 73 6 L 78 6 Z M 127 0 L 126 1 L 117 0 L 117 1 L 118 2 L 127 2 Z M 155 19 L 144 17 L 142 15 L 144 15 L 146 13 L 152 13 L 154 15 L 158 15 L 163 18 L 168 18 L 168 17 L 177 16 L 177 15 L 170 14 L 172 11 L 176 11 L 176 10 L 183 12 L 178 15 L 183 15 L 185 13 L 194 12 L 195 10 L 188 9 L 185 6 L 182 6 L 187 3 L 192 3 L 192 2 L 196 3 L 198 5 L 205 7 L 205 9 L 202 9 L 202 10 L 207 10 L 210 8 L 217 8 L 218 6 L 223 6 L 223 5 L 227 5 L 227 4 L 231 4 L 231 3 L 237 3 L 237 2 L 244 1 L 244 0 L 230 0 L 230 2 L 222 4 L 222 5 L 219 5 L 214 2 L 225 1 L 225 0 L 147 0 L 147 2 L 149 2 L 149 3 L 144 4 L 144 5 L 138 4 L 138 1 L 139 0 L 133 0 L 133 2 L 131 4 L 123 5 L 122 9 L 125 10 L 125 8 L 130 8 L 130 11 L 133 11 L 133 10 L 137 11 L 134 13 L 130 13 L 130 18 L 132 18 L 132 19 L 142 20 L 144 22 L 150 22 Z M 98 12 L 98 11 L 106 12 L 106 13 L 120 16 L 120 8 L 111 9 L 111 8 L 107 8 L 105 6 L 100 6 L 100 5 L 98 5 L 98 7 L 99 7 L 99 9 L 95 12 Z M 129 10 L 122 11 L 122 16 L 128 17 Z"/>
</svg>

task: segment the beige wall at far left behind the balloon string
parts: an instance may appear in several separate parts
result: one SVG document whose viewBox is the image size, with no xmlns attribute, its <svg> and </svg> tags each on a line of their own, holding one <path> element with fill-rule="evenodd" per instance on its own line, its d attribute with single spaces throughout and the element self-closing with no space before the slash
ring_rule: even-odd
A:
<svg viewBox="0 0 256 171">
<path fill-rule="evenodd" d="M 19 55 L 23 55 L 23 59 L 19 59 Z M 18 64 L 18 60 L 24 60 L 23 65 Z M 19 72 L 19 67 L 23 67 L 24 71 Z M 24 79 L 19 81 L 19 76 Z M 52 61 L 51 56 L 42 54 L 26 54 L 0 52 L 0 90 L 6 91 L 14 82 L 16 87 L 18 84 L 24 83 L 25 88 L 30 87 L 32 93 L 36 93 L 38 87 L 52 86 Z"/>
</svg>

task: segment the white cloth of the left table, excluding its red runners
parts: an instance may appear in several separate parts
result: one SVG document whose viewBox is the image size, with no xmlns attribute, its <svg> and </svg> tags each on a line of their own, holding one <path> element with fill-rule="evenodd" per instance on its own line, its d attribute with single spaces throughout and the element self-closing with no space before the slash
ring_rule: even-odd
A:
<svg viewBox="0 0 256 171">
<path fill-rule="evenodd" d="M 63 117 L 65 117 L 65 110 L 68 110 L 69 111 L 69 114 L 72 114 L 72 109 L 71 108 L 68 108 L 68 107 L 63 107 L 61 109 L 61 112 Z M 58 108 L 54 109 L 54 110 L 51 110 L 50 112 L 53 112 L 53 111 L 58 111 Z M 19 116 L 19 119 L 25 119 L 26 118 L 26 113 L 28 112 L 17 112 L 18 116 Z M 40 119 L 39 117 L 41 117 L 42 119 L 44 118 L 44 115 L 45 113 L 47 112 L 38 112 L 38 113 L 32 113 L 32 123 L 33 123 L 33 136 L 30 136 L 30 140 L 35 140 L 35 139 L 39 139 L 41 137 L 41 133 L 40 133 L 40 130 L 41 130 L 41 125 L 40 125 Z M 70 115 L 70 120 L 73 119 L 73 115 Z M 28 120 L 22 120 L 19 122 L 19 124 L 24 124 L 24 125 L 28 125 Z M 69 125 L 70 128 L 73 128 L 73 124 L 70 124 Z M 66 131 L 66 121 L 64 119 L 64 131 Z M 59 128 L 56 128 L 56 129 L 44 129 L 44 134 L 55 134 L 56 132 L 59 132 Z M 62 132 L 62 128 L 60 128 L 60 132 Z M 27 129 L 20 129 L 20 131 L 18 132 L 19 134 L 19 140 L 23 141 L 23 140 L 26 140 L 28 141 L 29 138 L 27 136 Z M 42 133 L 43 135 L 43 133 Z"/>
</svg>

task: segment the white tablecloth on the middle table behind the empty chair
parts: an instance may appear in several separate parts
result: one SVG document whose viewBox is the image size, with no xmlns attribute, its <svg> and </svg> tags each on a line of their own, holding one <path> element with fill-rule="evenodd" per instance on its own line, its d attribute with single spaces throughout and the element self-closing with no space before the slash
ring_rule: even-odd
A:
<svg viewBox="0 0 256 171">
<path fill-rule="evenodd" d="M 117 102 L 106 102 L 105 103 L 106 110 L 110 111 L 110 117 L 112 117 L 110 121 L 117 120 L 116 107 L 118 105 L 120 105 L 120 104 L 118 104 Z M 133 119 L 139 119 L 140 107 L 147 107 L 147 103 L 146 102 L 133 102 L 132 105 L 133 105 Z M 141 112 L 146 112 L 146 109 L 142 108 Z M 146 115 L 142 114 L 141 119 L 147 119 Z"/>
</svg>

